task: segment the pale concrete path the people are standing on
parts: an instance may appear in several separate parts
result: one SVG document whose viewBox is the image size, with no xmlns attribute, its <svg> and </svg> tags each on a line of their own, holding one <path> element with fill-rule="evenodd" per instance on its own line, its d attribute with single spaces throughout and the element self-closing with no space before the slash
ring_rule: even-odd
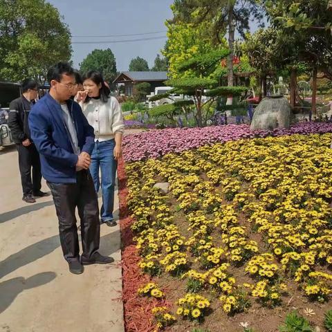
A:
<svg viewBox="0 0 332 332">
<path fill-rule="evenodd" d="M 17 152 L 0 149 L 0 332 L 123 332 L 119 226 L 101 227 L 114 264 L 69 273 L 51 197 L 21 201 Z"/>
</svg>

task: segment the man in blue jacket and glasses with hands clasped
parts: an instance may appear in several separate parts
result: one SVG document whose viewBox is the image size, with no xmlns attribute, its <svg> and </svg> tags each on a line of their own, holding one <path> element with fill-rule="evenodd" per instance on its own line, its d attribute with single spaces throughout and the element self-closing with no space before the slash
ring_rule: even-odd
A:
<svg viewBox="0 0 332 332">
<path fill-rule="evenodd" d="M 47 79 L 50 92 L 30 111 L 30 134 L 40 154 L 42 174 L 53 196 L 64 258 L 71 273 L 80 274 L 82 265 L 114 261 L 98 252 L 98 198 L 89 172 L 93 127 L 84 117 L 80 105 L 70 99 L 77 86 L 73 68 L 66 62 L 59 62 L 48 70 Z M 81 219 L 81 259 L 75 208 Z"/>
</svg>

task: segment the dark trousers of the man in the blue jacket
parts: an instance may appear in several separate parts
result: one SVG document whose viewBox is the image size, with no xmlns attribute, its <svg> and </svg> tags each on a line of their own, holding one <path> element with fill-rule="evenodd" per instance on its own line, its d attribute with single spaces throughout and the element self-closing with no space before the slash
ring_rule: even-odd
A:
<svg viewBox="0 0 332 332">
<path fill-rule="evenodd" d="M 80 258 L 75 209 L 81 219 L 82 257 L 91 259 L 99 249 L 100 223 L 98 197 L 89 171 L 77 172 L 76 183 L 47 183 L 53 196 L 59 234 L 66 261 Z"/>
</svg>

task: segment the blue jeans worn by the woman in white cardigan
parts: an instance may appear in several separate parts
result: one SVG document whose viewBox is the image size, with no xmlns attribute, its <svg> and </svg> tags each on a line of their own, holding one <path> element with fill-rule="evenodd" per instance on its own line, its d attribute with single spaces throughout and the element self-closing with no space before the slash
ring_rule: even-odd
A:
<svg viewBox="0 0 332 332">
<path fill-rule="evenodd" d="M 114 186 L 116 184 L 116 168 L 118 167 L 118 162 L 113 156 L 115 145 L 115 140 L 96 141 L 91 154 L 90 172 L 96 192 L 99 192 L 100 189 L 99 167 L 102 171 L 100 217 L 103 223 L 113 220 Z"/>
</svg>

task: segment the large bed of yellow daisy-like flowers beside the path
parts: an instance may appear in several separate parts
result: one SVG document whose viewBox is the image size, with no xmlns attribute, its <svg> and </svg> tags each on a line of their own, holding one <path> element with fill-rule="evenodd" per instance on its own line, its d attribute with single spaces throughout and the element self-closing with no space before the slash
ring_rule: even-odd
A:
<svg viewBox="0 0 332 332">
<path fill-rule="evenodd" d="M 238 140 L 127 165 L 140 267 L 186 284 L 178 315 L 200 319 L 209 301 L 225 313 L 277 306 L 290 284 L 329 300 L 330 142 L 329 133 Z"/>
</svg>

